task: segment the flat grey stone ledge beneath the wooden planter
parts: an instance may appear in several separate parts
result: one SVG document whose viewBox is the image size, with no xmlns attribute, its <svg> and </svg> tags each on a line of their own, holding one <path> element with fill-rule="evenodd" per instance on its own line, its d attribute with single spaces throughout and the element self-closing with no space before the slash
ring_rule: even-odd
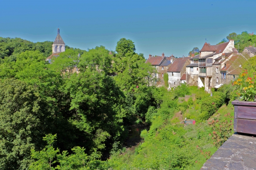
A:
<svg viewBox="0 0 256 170">
<path fill-rule="evenodd" d="M 233 134 L 200 170 L 256 170 L 256 137 Z"/>
</svg>

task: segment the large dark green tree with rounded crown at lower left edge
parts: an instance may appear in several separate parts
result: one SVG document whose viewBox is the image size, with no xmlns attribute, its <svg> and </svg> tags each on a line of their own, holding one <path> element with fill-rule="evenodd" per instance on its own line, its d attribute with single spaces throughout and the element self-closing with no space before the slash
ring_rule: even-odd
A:
<svg viewBox="0 0 256 170">
<path fill-rule="evenodd" d="M 0 82 L 0 167 L 26 169 L 30 150 L 40 146 L 48 107 L 38 89 L 20 80 Z"/>
</svg>

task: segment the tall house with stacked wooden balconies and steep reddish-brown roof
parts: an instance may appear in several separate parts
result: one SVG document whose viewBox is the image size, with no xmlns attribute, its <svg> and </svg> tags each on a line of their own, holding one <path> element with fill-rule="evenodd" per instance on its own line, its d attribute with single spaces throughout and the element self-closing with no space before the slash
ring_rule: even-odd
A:
<svg viewBox="0 0 256 170">
<path fill-rule="evenodd" d="M 234 40 L 217 45 L 204 43 L 203 48 L 199 51 L 198 87 L 204 87 L 204 90 L 210 92 L 214 59 L 222 56 L 222 53 L 233 52 L 233 49 Z"/>
</svg>

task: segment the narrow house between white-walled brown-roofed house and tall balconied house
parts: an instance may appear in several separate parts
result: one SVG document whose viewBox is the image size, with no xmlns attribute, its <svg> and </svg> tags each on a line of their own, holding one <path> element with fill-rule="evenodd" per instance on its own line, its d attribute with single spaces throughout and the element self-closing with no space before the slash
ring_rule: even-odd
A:
<svg viewBox="0 0 256 170">
<path fill-rule="evenodd" d="M 190 86 L 198 86 L 198 59 L 199 54 L 195 56 L 192 54 L 190 60 L 190 64 L 186 66 L 186 82 Z"/>
</svg>

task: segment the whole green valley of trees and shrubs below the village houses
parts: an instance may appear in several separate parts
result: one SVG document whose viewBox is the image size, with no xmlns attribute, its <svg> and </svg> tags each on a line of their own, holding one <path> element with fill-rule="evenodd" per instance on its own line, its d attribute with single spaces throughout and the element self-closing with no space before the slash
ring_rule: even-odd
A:
<svg viewBox="0 0 256 170">
<path fill-rule="evenodd" d="M 231 85 L 212 97 L 186 84 L 157 88 L 132 40 L 112 53 L 66 46 L 49 64 L 51 51 L 52 42 L 0 37 L 3 170 L 200 169 L 233 133 Z M 185 117 L 196 125 L 184 127 Z M 142 121 L 144 143 L 130 150 L 130 127 Z"/>
</svg>

